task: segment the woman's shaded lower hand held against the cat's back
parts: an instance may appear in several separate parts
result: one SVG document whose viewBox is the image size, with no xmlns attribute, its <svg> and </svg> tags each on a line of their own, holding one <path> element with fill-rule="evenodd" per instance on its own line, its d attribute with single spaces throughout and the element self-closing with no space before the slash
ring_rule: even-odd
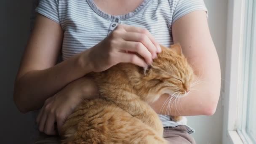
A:
<svg viewBox="0 0 256 144">
<path fill-rule="evenodd" d="M 97 96 L 99 96 L 99 93 L 96 83 L 87 77 L 82 77 L 69 83 L 61 91 L 45 101 L 37 116 L 39 130 L 48 135 L 58 134 L 55 124 L 57 124 L 60 132 L 61 126 L 67 117 L 83 99 L 94 99 Z"/>
</svg>

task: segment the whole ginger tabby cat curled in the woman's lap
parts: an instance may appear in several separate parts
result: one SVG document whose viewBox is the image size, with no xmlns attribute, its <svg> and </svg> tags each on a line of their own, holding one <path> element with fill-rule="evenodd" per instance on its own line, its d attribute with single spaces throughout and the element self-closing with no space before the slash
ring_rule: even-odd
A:
<svg viewBox="0 0 256 144">
<path fill-rule="evenodd" d="M 194 74 L 179 44 L 161 48 L 147 70 L 117 64 L 89 74 L 100 98 L 83 101 L 68 117 L 62 144 L 167 144 L 163 125 L 148 103 L 164 93 L 186 95 Z"/>
</svg>

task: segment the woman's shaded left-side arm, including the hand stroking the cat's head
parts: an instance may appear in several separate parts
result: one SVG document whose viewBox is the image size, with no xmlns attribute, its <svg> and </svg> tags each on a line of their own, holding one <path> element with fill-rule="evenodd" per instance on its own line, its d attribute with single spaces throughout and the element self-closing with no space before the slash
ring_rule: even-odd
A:
<svg viewBox="0 0 256 144">
<path fill-rule="evenodd" d="M 13 97 L 21 112 L 39 109 L 48 97 L 89 72 L 121 62 L 146 67 L 161 51 L 146 29 L 118 25 L 97 45 L 55 65 L 62 38 L 60 24 L 39 14 L 15 82 Z"/>
</svg>

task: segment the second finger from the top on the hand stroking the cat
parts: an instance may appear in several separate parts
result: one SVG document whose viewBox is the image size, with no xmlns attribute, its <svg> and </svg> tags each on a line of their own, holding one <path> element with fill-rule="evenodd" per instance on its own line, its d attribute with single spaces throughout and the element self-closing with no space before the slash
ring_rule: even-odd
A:
<svg viewBox="0 0 256 144">
<path fill-rule="evenodd" d="M 145 48 L 147 48 L 147 50 L 151 53 L 153 59 L 157 57 L 157 48 L 149 39 L 148 35 L 141 34 L 138 32 L 126 32 L 122 38 L 125 41 L 134 41 L 142 43 L 145 46 Z"/>
</svg>

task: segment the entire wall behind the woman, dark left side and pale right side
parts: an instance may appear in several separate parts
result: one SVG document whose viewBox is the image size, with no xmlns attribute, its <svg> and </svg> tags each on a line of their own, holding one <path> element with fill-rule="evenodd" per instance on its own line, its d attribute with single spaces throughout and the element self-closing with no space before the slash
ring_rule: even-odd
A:
<svg viewBox="0 0 256 144">
<path fill-rule="evenodd" d="M 28 144 L 32 141 L 31 114 L 22 115 L 13 104 L 13 82 L 29 36 L 31 0 L 0 0 L 0 143 Z M 225 68 L 227 0 L 205 0 L 209 25 L 219 54 L 222 78 Z M 211 117 L 189 117 L 197 144 L 221 144 L 222 108 Z"/>
</svg>

